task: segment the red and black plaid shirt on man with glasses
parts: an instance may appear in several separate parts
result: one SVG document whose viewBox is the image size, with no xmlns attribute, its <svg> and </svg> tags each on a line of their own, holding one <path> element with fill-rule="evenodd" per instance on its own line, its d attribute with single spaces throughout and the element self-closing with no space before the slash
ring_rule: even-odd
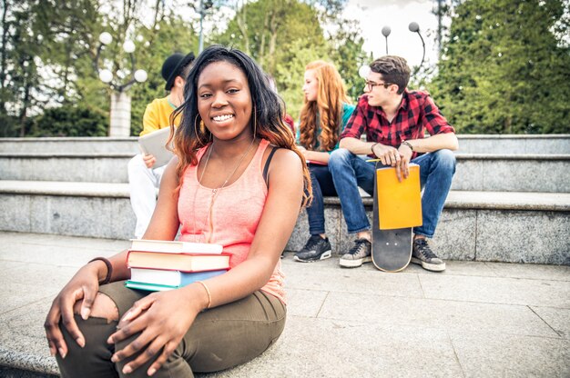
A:
<svg viewBox="0 0 570 378">
<path fill-rule="evenodd" d="M 368 142 L 379 142 L 398 148 L 404 140 L 422 139 L 425 130 L 430 135 L 455 133 L 453 127 L 433 104 L 430 94 L 409 92 L 406 89 L 402 94 L 402 104 L 392 123 L 386 119 L 382 107 L 368 104 L 368 95 L 361 95 L 341 138 L 360 139 L 361 134 L 366 134 Z M 412 154 L 412 158 L 416 156 L 416 153 Z"/>
</svg>

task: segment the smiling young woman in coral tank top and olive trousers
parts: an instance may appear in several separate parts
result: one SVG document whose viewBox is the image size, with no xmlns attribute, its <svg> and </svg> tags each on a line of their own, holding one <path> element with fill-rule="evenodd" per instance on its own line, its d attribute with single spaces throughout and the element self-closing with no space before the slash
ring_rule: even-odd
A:
<svg viewBox="0 0 570 378">
<path fill-rule="evenodd" d="M 125 252 L 85 265 L 46 319 L 64 377 L 215 372 L 255 358 L 283 330 L 280 253 L 311 193 L 284 106 L 248 55 L 210 46 L 180 111 L 176 157 L 143 238 L 173 240 L 179 228 L 182 241 L 222 244 L 231 269 L 148 294 L 125 287 Z"/>
</svg>

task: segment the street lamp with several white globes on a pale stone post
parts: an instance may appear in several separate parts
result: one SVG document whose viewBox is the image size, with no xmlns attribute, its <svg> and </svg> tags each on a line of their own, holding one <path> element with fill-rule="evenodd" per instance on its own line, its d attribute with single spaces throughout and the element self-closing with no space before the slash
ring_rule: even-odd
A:
<svg viewBox="0 0 570 378">
<path fill-rule="evenodd" d="M 127 94 L 128 89 L 135 83 L 144 83 L 147 81 L 147 71 L 142 69 L 135 69 L 135 44 L 127 40 L 123 43 L 123 50 L 130 57 L 130 78 L 127 82 L 120 83 L 120 69 L 117 70 L 115 75 L 111 70 L 99 69 L 99 57 L 105 45 L 113 42 L 113 37 L 103 32 L 99 35 L 99 46 L 97 47 L 97 55 L 95 56 L 94 68 L 99 76 L 99 79 L 109 85 L 112 90 L 111 93 L 111 122 L 109 127 L 109 136 L 128 136 L 130 135 L 130 95 Z"/>
</svg>

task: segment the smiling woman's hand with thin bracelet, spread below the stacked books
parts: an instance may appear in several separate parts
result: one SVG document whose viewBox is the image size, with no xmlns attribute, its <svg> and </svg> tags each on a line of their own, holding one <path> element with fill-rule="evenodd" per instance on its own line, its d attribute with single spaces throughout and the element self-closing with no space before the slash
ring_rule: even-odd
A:
<svg viewBox="0 0 570 378">
<path fill-rule="evenodd" d="M 184 289 L 151 293 L 141 298 L 125 313 L 118 323 L 117 332 L 109 336 L 107 343 L 117 343 L 140 333 L 126 347 L 117 351 L 111 361 L 117 363 L 135 353 L 143 351 L 137 358 L 123 367 L 123 373 L 131 373 L 149 359 L 158 355 L 148 368 L 148 375 L 154 374 L 168 356 L 175 351 L 182 337 L 200 311 L 200 300 Z"/>
</svg>

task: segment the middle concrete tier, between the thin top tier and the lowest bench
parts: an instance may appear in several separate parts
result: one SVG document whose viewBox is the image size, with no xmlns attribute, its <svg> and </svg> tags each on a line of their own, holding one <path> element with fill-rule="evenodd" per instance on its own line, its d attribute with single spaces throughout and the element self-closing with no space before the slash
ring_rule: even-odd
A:
<svg viewBox="0 0 570 378">
<path fill-rule="evenodd" d="M 127 183 L 133 154 L 0 153 L 3 180 Z M 570 192 L 570 154 L 456 154 L 453 190 Z"/>
</svg>

